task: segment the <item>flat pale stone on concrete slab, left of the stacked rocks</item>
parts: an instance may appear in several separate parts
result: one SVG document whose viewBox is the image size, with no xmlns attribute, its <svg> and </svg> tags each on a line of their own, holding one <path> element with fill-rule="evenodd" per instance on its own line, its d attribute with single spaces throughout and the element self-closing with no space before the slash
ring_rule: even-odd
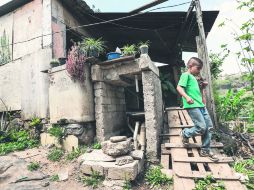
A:
<svg viewBox="0 0 254 190">
<path fill-rule="evenodd" d="M 81 157 L 81 161 L 103 161 L 103 162 L 114 162 L 116 159 L 112 156 L 104 154 L 102 150 L 93 150 L 91 153 L 85 153 Z"/>
</svg>

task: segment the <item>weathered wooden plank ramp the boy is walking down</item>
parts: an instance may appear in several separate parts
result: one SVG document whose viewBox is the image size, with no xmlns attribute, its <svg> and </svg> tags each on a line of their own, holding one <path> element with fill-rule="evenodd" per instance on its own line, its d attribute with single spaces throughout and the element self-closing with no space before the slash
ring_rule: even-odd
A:
<svg viewBox="0 0 254 190">
<path fill-rule="evenodd" d="M 201 136 L 190 138 L 190 146 L 182 145 L 180 132 L 186 127 L 193 127 L 188 112 L 181 108 L 167 108 L 168 131 L 161 134 L 161 170 L 173 177 L 174 190 L 195 189 L 195 179 L 212 175 L 216 180 L 222 180 L 227 190 L 246 190 L 241 184 L 239 176 L 235 174 L 228 163 L 233 162 L 231 157 L 220 154 L 222 143 L 211 144 L 212 149 L 219 157 L 218 162 L 212 162 L 209 158 L 199 155 L 202 144 Z"/>
</svg>

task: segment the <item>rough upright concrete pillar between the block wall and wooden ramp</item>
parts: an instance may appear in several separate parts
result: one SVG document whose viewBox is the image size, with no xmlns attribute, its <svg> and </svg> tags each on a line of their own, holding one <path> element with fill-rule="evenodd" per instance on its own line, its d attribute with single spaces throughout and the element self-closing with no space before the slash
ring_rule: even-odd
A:
<svg viewBox="0 0 254 190">
<path fill-rule="evenodd" d="M 158 157 L 160 146 L 159 134 L 163 127 L 162 92 L 159 77 L 152 71 L 142 72 L 145 127 L 146 127 L 146 154 L 150 161 Z"/>
</svg>

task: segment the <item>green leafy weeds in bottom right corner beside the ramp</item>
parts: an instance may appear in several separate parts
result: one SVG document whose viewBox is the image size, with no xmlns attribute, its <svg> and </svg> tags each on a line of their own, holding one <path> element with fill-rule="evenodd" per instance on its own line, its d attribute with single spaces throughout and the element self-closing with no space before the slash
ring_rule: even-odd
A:
<svg viewBox="0 0 254 190">
<path fill-rule="evenodd" d="M 239 160 L 234 163 L 234 170 L 248 176 L 245 185 L 248 189 L 254 190 L 254 157 L 248 160 Z"/>
</svg>

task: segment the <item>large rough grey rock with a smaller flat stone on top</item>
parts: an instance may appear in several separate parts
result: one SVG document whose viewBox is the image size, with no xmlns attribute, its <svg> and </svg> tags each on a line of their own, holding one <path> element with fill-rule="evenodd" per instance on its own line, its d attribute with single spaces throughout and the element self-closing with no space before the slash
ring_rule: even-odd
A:
<svg viewBox="0 0 254 190">
<path fill-rule="evenodd" d="M 102 143 L 102 151 L 104 154 L 110 156 L 123 156 L 130 152 L 131 150 L 131 140 L 127 139 L 126 141 L 112 143 L 111 141 L 104 141 Z"/>
</svg>

